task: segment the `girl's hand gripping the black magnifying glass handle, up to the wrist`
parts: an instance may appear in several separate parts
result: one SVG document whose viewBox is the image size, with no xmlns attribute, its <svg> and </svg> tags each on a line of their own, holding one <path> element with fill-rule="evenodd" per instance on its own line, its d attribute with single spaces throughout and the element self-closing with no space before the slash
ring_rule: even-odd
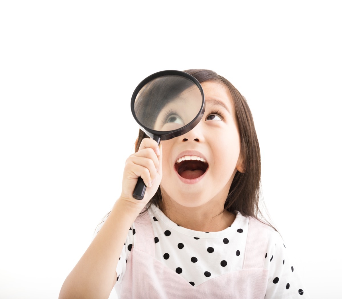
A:
<svg viewBox="0 0 342 299">
<path fill-rule="evenodd" d="M 128 200 L 141 208 L 155 195 L 162 177 L 162 149 L 152 138 L 144 138 L 139 150 L 129 156 L 123 171 L 121 199 Z M 138 178 L 146 185 L 142 200 L 133 198 Z"/>
</svg>

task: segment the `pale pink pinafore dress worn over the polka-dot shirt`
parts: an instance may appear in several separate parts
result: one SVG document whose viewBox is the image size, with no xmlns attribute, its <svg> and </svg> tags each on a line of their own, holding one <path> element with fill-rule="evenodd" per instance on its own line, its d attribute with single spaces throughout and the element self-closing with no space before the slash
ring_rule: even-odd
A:
<svg viewBox="0 0 342 299">
<path fill-rule="evenodd" d="M 244 266 L 214 277 L 196 287 L 154 257 L 154 233 L 148 213 L 135 222 L 135 244 L 121 283 L 118 298 L 264 298 L 268 270 L 263 268 L 268 235 L 264 224 L 250 217 Z"/>
</svg>

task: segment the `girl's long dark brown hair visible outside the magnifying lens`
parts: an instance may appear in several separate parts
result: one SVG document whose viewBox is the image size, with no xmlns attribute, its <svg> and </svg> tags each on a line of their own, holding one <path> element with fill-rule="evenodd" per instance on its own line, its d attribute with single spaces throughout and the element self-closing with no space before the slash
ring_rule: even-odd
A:
<svg viewBox="0 0 342 299">
<path fill-rule="evenodd" d="M 241 153 L 244 160 L 244 172 L 237 171 L 227 199 L 224 210 L 229 212 L 239 211 L 242 215 L 258 216 L 264 218 L 259 209 L 259 194 L 261 184 L 261 161 L 260 148 L 257 133 L 255 132 L 252 113 L 248 107 L 246 99 L 227 79 L 218 75 L 214 71 L 205 69 L 185 70 L 186 73 L 194 76 L 200 83 L 213 81 L 224 84 L 231 92 L 233 104 L 235 106 L 236 119 L 238 123 Z M 147 135 L 139 130 L 139 136 L 135 143 L 135 152 L 138 151 L 141 141 Z M 162 209 L 162 196 L 160 187 L 152 197 L 150 204 L 155 204 Z"/>
</svg>

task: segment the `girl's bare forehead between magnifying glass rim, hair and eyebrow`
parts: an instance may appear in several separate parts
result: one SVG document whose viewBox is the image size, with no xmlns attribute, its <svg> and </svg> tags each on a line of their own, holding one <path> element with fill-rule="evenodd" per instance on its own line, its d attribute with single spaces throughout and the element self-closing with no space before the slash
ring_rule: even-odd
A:
<svg viewBox="0 0 342 299">
<path fill-rule="evenodd" d="M 204 91 L 206 105 L 225 105 L 227 110 L 234 115 L 235 107 L 230 90 L 224 84 L 214 81 L 201 83 Z"/>
</svg>

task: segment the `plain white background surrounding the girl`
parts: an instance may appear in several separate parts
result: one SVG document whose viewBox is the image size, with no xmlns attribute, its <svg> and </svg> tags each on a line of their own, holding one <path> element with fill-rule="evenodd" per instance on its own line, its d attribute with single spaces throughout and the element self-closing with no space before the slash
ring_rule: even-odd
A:
<svg viewBox="0 0 342 299">
<path fill-rule="evenodd" d="M 312 298 L 340 298 L 338 1 L 1 1 L 0 298 L 57 298 L 120 194 L 136 85 L 212 69 L 247 98 L 263 198 Z"/>
</svg>

